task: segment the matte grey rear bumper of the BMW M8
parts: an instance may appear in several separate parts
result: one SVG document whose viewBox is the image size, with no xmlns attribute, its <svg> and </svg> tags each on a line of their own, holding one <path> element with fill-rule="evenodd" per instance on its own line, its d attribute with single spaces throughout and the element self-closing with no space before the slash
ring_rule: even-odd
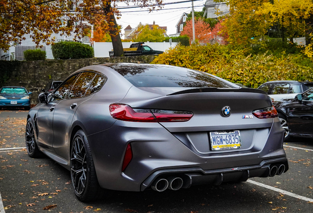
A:
<svg viewBox="0 0 313 213">
<path fill-rule="evenodd" d="M 272 163 L 283 163 L 287 170 L 288 163 L 282 147 L 284 129 L 279 119 L 275 118 L 265 132 L 263 137 L 254 135 L 252 142 L 247 138 L 246 141 L 250 141 L 247 148 L 204 154 L 178 140 L 158 123 L 116 121 L 111 128 L 87 138 L 101 187 L 143 191 L 155 178 L 169 173 L 184 176 L 197 174 L 191 178 L 193 185 L 199 184 L 199 179 L 204 183 L 217 184 L 241 180 L 242 177 L 268 177 L 268 167 Z M 133 157 L 122 172 L 128 143 L 131 144 Z M 223 178 L 218 180 L 220 176 Z"/>
</svg>

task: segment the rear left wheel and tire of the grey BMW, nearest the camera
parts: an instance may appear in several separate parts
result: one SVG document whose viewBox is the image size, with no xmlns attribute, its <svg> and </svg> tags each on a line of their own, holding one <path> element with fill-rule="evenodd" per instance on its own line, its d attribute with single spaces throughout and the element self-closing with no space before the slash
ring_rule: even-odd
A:
<svg viewBox="0 0 313 213">
<path fill-rule="evenodd" d="M 82 202 L 99 199 L 102 189 L 95 173 L 90 144 L 82 130 L 75 134 L 70 150 L 70 173 L 77 199 Z"/>
</svg>

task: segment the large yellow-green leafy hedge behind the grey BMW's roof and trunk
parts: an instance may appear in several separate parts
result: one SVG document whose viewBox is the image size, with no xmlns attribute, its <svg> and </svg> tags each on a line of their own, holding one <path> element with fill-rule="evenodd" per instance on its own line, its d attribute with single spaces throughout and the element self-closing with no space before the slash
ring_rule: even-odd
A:
<svg viewBox="0 0 313 213">
<path fill-rule="evenodd" d="M 205 71 L 252 88 L 270 80 L 313 80 L 313 62 L 301 53 L 277 56 L 249 52 L 231 45 L 178 45 L 152 63 Z"/>
</svg>

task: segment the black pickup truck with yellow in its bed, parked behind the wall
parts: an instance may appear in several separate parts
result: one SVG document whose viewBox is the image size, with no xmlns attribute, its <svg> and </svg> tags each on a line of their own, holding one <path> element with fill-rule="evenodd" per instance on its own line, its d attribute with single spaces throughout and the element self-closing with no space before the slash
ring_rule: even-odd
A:
<svg viewBox="0 0 313 213">
<path fill-rule="evenodd" d="M 138 42 L 130 44 L 129 48 L 124 49 L 124 56 L 135 56 L 135 55 L 158 55 L 163 53 L 162 51 L 153 50 L 150 46 L 143 45 L 145 42 Z M 109 51 L 109 56 L 114 56 L 114 51 Z"/>
</svg>

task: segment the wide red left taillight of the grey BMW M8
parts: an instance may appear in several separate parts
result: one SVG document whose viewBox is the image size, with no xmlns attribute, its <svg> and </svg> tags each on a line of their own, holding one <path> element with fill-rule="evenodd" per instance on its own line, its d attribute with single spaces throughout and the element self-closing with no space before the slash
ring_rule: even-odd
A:
<svg viewBox="0 0 313 213">
<path fill-rule="evenodd" d="M 125 104 L 111 104 L 109 109 L 113 118 L 133 122 L 183 122 L 193 116 L 188 111 L 134 109 Z"/>
</svg>

